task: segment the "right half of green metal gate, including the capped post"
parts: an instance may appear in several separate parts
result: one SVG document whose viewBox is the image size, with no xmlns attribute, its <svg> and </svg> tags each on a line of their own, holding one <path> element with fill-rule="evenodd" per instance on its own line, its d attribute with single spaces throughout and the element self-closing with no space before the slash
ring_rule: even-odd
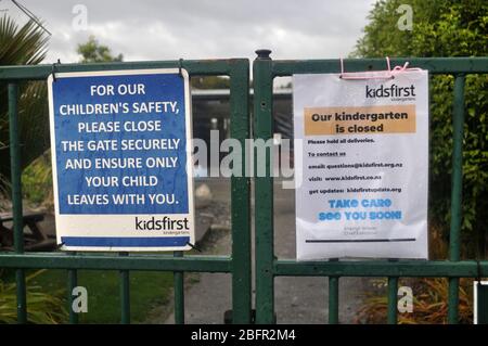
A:
<svg viewBox="0 0 488 346">
<path fill-rule="evenodd" d="M 338 60 L 271 60 L 268 50 L 256 52 L 254 76 L 254 137 L 272 138 L 273 79 L 293 74 L 339 73 Z M 488 261 L 460 260 L 462 203 L 462 142 L 464 127 L 464 81 L 467 74 L 487 74 L 487 57 L 393 59 L 391 64 L 428 69 L 431 74 L 454 76 L 452 112 L 452 187 L 449 260 L 364 260 L 295 261 L 278 259 L 273 249 L 273 178 L 271 150 L 267 154 L 265 177 L 255 178 L 256 229 L 256 323 L 274 323 L 274 278 L 329 277 L 329 322 L 338 322 L 338 282 L 341 277 L 387 277 L 388 323 L 397 322 L 397 291 L 400 277 L 449 278 L 449 323 L 458 322 L 459 279 L 488 274 Z M 347 72 L 384 69 L 384 59 L 345 60 Z M 262 165 L 262 163 L 261 163 Z"/>
</svg>

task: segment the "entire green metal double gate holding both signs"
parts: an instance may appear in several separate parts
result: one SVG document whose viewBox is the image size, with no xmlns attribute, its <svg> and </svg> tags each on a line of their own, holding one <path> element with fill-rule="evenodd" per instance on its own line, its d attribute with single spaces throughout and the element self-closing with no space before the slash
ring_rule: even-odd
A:
<svg viewBox="0 0 488 346">
<path fill-rule="evenodd" d="M 270 51 L 258 51 L 254 62 L 254 137 L 272 138 L 273 79 L 293 74 L 337 73 L 337 60 L 272 61 Z M 403 64 L 406 59 L 394 59 L 394 64 Z M 454 75 L 453 152 L 452 152 L 452 198 L 450 258 L 442 261 L 367 260 L 367 261 L 309 261 L 278 259 L 273 249 L 273 178 L 271 150 L 268 148 L 266 176 L 255 178 L 255 246 L 256 246 L 256 322 L 274 323 L 274 278 L 328 277 L 329 321 L 338 322 L 338 281 L 341 277 L 387 277 L 388 322 L 397 321 L 397 285 L 400 277 L 446 277 L 449 278 L 449 322 L 458 321 L 459 279 L 476 278 L 488 273 L 488 261 L 460 260 L 460 228 L 462 203 L 462 138 L 464 125 L 464 81 L 467 74 L 488 73 L 486 57 L 409 59 L 413 66 L 431 74 Z M 384 60 L 346 60 L 348 71 L 382 69 Z M 179 61 L 66 64 L 56 65 L 56 72 L 90 72 L 133 68 L 176 68 Z M 190 76 L 227 75 L 230 77 L 231 137 L 245 148 L 249 138 L 249 63 L 244 59 L 215 61 L 183 61 Z M 252 322 L 251 285 L 251 207 L 249 178 L 232 177 L 231 256 L 184 256 L 171 255 L 92 255 L 75 253 L 24 253 L 23 212 L 21 188 L 21 157 L 17 131 L 18 84 L 28 80 L 46 80 L 53 72 L 52 65 L 0 67 L 0 82 L 9 84 L 10 151 L 12 166 L 12 203 L 14 214 L 14 252 L 0 253 L 0 268 L 16 269 L 17 321 L 27 322 L 25 269 L 66 269 L 68 272 L 68 304 L 70 307 L 73 287 L 77 285 L 78 269 L 106 269 L 120 271 L 121 322 L 130 322 L 129 272 L 130 270 L 172 271 L 175 277 L 175 321 L 184 323 L 184 272 L 226 272 L 232 274 L 232 309 L 234 323 Z M 245 162 L 245 153 L 242 154 Z M 243 165 L 244 166 L 244 165 Z M 257 165 L 255 165 L 257 168 Z M 69 321 L 78 317 L 69 308 Z"/>
</svg>

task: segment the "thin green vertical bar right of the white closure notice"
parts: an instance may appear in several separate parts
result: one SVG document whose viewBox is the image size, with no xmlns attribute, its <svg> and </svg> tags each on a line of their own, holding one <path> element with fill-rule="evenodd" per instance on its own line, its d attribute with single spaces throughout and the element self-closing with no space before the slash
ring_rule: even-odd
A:
<svg viewBox="0 0 488 346">
<path fill-rule="evenodd" d="M 465 76 L 454 79 L 454 105 L 452 112 L 452 188 L 451 188 L 451 230 L 449 239 L 449 259 L 460 259 L 460 233 L 462 221 L 463 193 L 463 133 L 464 133 L 464 84 Z M 458 323 L 459 278 L 449 279 L 449 323 Z"/>
</svg>

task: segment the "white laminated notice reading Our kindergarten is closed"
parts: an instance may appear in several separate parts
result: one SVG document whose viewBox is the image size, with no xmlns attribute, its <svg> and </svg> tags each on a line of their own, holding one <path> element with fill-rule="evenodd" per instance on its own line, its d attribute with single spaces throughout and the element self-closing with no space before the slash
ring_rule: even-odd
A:
<svg viewBox="0 0 488 346">
<path fill-rule="evenodd" d="M 299 260 L 428 257 L 428 73 L 362 76 L 293 77 Z"/>
</svg>

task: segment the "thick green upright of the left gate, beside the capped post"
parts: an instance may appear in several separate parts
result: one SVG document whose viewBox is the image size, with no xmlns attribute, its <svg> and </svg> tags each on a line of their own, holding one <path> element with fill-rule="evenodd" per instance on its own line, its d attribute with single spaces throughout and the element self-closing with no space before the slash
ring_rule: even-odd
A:
<svg viewBox="0 0 488 346">
<path fill-rule="evenodd" d="M 230 82 L 231 137 L 240 141 L 241 148 L 246 148 L 246 139 L 251 137 L 248 60 L 233 64 Z M 243 150 L 242 172 L 231 178 L 232 323 L 239 324 L 251 323 L 252 309 L 251 180 L 246 165 Z"/>
</svg>

